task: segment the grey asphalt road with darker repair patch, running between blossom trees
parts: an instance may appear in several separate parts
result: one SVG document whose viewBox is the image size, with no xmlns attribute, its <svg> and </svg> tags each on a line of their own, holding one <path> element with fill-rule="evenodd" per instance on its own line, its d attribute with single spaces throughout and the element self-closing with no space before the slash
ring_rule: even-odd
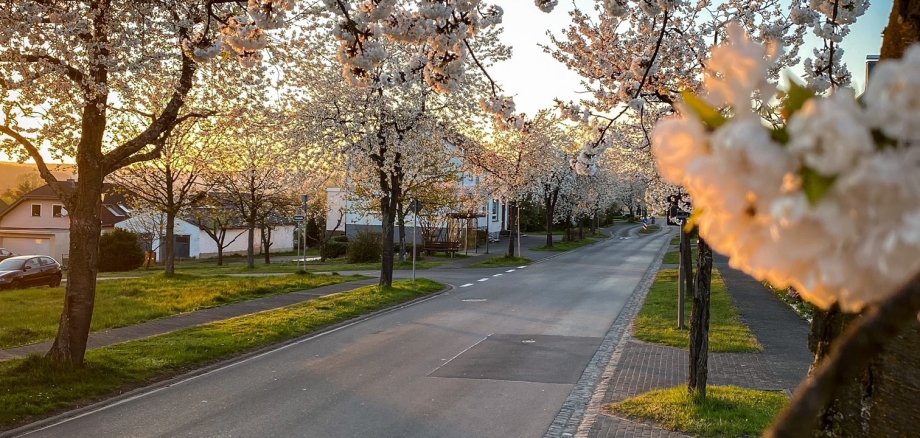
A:
<svg viewBox="0 0 920 438">
<path fill-rule="evenodd" d="M 424 271 L 455 288 L 27 436 L 542 436 L 667 243 L 635 231 L 524 269 Z"/>
</svg>

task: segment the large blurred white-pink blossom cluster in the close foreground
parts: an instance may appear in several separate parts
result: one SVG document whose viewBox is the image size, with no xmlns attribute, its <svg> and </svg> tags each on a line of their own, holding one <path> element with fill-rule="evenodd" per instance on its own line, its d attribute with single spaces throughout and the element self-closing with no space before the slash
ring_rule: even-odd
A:
<svg viewBox="0 0 920 438">
<path fill-rule="evenodd" d="M 700 235 L 732 266 L 822 308 L 884 300 L 920 271 L 920 46 L 879 65 L 865 106 L 843 89 L 805 101 L 780 129 L 788 141 L 738 111 L 764 91 L 758 46 L 734 36 L 713 51 L 708 74 L 723 81 L 707 81 L 709 100 L 736 115 L 704 124 L 688 103 L 659 123 L 659 171 L 687 188 Z"/>
</svg>

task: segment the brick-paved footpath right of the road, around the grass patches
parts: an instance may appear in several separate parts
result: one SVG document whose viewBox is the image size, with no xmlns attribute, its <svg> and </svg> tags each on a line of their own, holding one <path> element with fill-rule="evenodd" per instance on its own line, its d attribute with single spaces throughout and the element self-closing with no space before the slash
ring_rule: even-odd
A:
<svg viewBox="0 0 920 438">
<path fill-rule="evenodd" d="M 737 385 L 765 390 L 792 392 L 808 373 L 812 355 L 808 351 L 808 323 L 758 281 L 731 269 L 728 260 L 714 257 L 741 320 L 764 347 L 762 353 L 710 353 L 709 383 Z M 644 294 L 639 302 L 644 300 Z M 637 309 L 638 310 L 638 309 Z M 626 312 L 624 312 L 626 313 Z M 634 314 L 633 314 L 634 315 Z M 576 436 L 682 437 L 678 432 L 610 415 L 600 407 L 656 389 L 685 384 L 688 353 L 634 339 L 631 330 L 617 345 L 589 415 Z"/>
</svg>

